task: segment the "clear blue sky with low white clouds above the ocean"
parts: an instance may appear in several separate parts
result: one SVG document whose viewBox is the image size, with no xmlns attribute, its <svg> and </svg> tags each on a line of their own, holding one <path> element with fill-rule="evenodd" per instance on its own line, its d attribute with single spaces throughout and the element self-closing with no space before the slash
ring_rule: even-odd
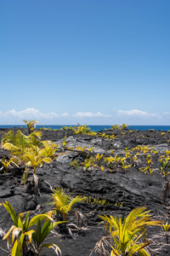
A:
<svg viewBox="0 0 170 256">
<path fill-rule="evenodd" d="M 170 125 L 169 0 L 1 0 L 0 125 Z"/>
</svg>

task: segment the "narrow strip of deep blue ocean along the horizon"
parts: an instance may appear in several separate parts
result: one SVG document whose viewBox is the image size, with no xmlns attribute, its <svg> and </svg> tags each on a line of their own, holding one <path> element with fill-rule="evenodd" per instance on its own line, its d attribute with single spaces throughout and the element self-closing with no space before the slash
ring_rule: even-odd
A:
<svg viewBox="0 0 170 256">
<path fill-rule="evenodd" d="M 13 128 L 13 127 L 23 127 L 26 125 L 0 125 L 0 129 Z M 50 129 L 60 129 L 65 125 L 37 125 L 37 128 L 50 128 Z M 77 126 L 77 125 L 66 125 L 66 126 Z M 105 131 L 105 129 L 111 129 L 111 125 L 88 125 L 91 131 Z M 155 131 L 170 131 L 170 125 L 129 125 L 130 130 L 148 131 L 154 129 Z"/>
</svg>

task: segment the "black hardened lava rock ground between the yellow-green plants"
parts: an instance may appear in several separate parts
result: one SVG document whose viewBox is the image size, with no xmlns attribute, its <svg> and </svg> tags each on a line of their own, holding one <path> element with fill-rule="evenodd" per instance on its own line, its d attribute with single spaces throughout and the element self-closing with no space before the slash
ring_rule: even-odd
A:
<svg viewBox="0 0 170 256">
<path fill-rule="evenodd" d="M 17 128 L 14 130 L 17 131 Z M 26 132 L 25 129 L 21 130 Z M 8 129 L 1 129 L 0 132 L 1 139 Z M 61 234 L 59 230 L 54 230 L 57 231 L 57 235 L 49 236 L 49 241 L 59 246 L 63 256 L 88 256 L 92 253 L 95 243 L 105 236 L 103 224 L 99 225 L 99 215 L 117 215 L 124 218 L 133 208 L 146 207 L 154 219 L 161 220 L 164 224 L 169 220 L 169 195 L 167 193 L 162 198 L 162 188 L 168 184 L 167 173 L 170 172 L 170 168 L 166 167 L 165 178 L 160 172 L 159 160 L 162 155 L 170 155 L 169 132 L 116 130 L 100 131 L 97 135 L 84 135 L 75 134 L 71 130 L 42 130 L 42 140 L 57 143 L 59 150 L 50 164 L 44 164 L 37 169 L 40 195 L 34 195 L 32 171 L 27 177 L 26 184 L 21 184 L 24 166 L 4 173 L 3 165 L 0 163 L 0 201 L 8 201 L 16 213 L 31 211 L 33 215 L 48 212 L 53 208 L 47 202 L 51 201 L 52 189 L 57 187 L 65 189 L 65 193 L 73 197 L 87 196 L 88 201 L 77 203 L 73 209 L 82 212 L 84 223 L 77 230 L 72 229 L 72 237 L 70 234 Z M 134 149 L 137 146 L 141 148 Z M 84 166 L 84 160 L 92 156 L 95 158 L 96 154 L 104 154 L 100 162 L 95 160 L 94 166 Z M 136 154 L 137 159 L 134 158 Z M 5 155 L 8 155 L 8 152 L 1 149 L 0 159 Z M 125 166 L 129 167 L 123 168 L 121 160 L 111 165 L 104 160 L 111 156 L 115 158 L 116 155 L 120 158 L 125 157 Z M 77 168 L 71 166 L 73 160 L 77 160 Z M 147 160 L 151 160 L 150 169 L 144 171 Z M 68 216 L 68 221 L 70 224 L 77 224 L 73 210 Z M 0 228 L 7 232 L 12 221 L 4 207 L 0 207 L 0 216 Z M 152 241 L 152 255 L 170 255 L 170 247 L 161 227 L 150 228 L 147 238 Z M 0 247 L 6 249 L 6 242 L 0 241 Z M 8 253 L 0 249 L 0 255 Z M 41 255 L 55 254 L 50 249 L 44 249 Z"/>
</svg>

